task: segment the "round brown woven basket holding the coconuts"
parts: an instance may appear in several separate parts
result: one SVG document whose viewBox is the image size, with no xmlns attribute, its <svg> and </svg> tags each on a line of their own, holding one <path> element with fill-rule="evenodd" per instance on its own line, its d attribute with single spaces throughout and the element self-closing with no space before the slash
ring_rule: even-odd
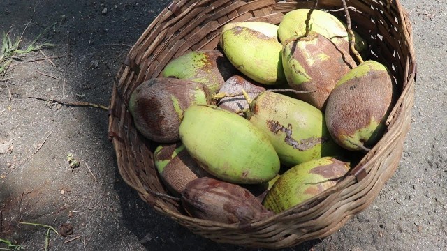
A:
<svg viewBox="0 0 447 251">
<path fill-rule="evenodd" d="M 397 82 L 400 98 L 387 121 L 388 130 L 376 146 L 341 182 L 323 194 L 248 225 L 228 225 L 191 218 L 166 189 L 154 168 L 155 145 L 140 135 L 126 108 L 133 89 L 159 77 L 164 66 L 192 50 L 215 49 L 221 27 L 228 22 L 279 24 L 288 11 L 311 8 L 312 1 L 180 0 L 171 3 L 142 33 L 117 73 L 110 101 L 109 137 L 119 173 L 156 211 L 196 234 L 219 243 L 246 247 L 284 248 L 329 236 L 372 203 L 397 168 L 410 127 L 416 61 L 411 24 L 399 0 L 348 1 L 353 29 L 372 45 L 370 59 L 385 64 Z M 346 22 L 341 0 L 320 0 L 318 9 L 331 10 Z"/>
</svg>

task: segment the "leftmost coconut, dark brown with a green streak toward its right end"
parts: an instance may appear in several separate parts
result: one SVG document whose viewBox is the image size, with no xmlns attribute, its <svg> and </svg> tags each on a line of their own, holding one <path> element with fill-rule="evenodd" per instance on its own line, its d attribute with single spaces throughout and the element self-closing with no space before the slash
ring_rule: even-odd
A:
<svg viewBox="0 0 447 251">
<path fill-rule="evenodd" d="M 137 130 L 160 143 L 179 141 L 184 110 L 193 104 L 212 104 L 214 93 L 204 84 L 183 79 L 155 78 L 131 94 L 129 112 Z"/>
</svg>

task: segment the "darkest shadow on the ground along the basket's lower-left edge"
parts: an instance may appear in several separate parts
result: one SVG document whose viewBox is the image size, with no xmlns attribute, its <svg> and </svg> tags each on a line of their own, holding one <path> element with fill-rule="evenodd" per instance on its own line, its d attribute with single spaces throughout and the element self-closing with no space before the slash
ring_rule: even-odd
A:
<svg viewBox="0 0 447 251">
<path fill-rule="evenodd" d="M 119 196 L 119 203 L 122 210 L 122 220 L 126 229 L 146 248 L 153 250 L 226 250 L 226 251 L 254 251 L 270 250 L 265 248 L 245 248 L 226 243 L 216 243 L 210 239 L 193 234 L 189 229 L 179 225 L 174 220 L 161 215 L 140 199 L 138 193 L 127 185 L 121 178 L 115 165 L 115 176 L 119 180 L 114 185 Z M 279 250 L 312 250 L 314 245 L 321 243 L 321 239 L 306 241 L 300 245 Z"/>
</svg>

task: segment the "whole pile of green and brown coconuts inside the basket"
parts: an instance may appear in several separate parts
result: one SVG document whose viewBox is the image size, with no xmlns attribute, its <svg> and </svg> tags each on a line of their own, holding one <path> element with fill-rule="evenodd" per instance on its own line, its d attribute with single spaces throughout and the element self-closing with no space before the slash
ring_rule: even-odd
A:
<svg viewBox="0 0 447 251">
<path fill-rule="evenodd" d="M 336 185 L 393 107 L 390 72 L 359 56 L 368 46 L 330 13 L 297 9 L 279 25 L 228 23 L 215 50 L 170 61 L 129 100 L 170 196 L 191 217 L 244 223 Z"/>
</svg>

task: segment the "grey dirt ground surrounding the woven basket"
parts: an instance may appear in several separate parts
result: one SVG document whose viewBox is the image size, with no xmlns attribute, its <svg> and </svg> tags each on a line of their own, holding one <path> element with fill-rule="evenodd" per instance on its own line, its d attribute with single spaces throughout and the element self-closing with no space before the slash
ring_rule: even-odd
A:
<svg viewBox="0 0 447 251">
<path fill-rule="evenodd" d="M 19 223 L 31 222 L 73 226 L 67 237 L 50 231 L 49 250 L 250 250 L 191 234 L 149 208 L 117 172 L 108 112 L 29 98 L 107 106 L 124 56 L 169 2 L 0 1 L 1 33 L 23 33 L 26 47 L 50 27 L 39 41 L 54 44 L 13 61 L 0 79 L 0 249 L 11 241 L 44 250 L 48 228 Z M 447 2 L 402 5 L 418 79 L 400 167 L 342 229 L 284 250 L 447 250 Z"/>
</svg>

